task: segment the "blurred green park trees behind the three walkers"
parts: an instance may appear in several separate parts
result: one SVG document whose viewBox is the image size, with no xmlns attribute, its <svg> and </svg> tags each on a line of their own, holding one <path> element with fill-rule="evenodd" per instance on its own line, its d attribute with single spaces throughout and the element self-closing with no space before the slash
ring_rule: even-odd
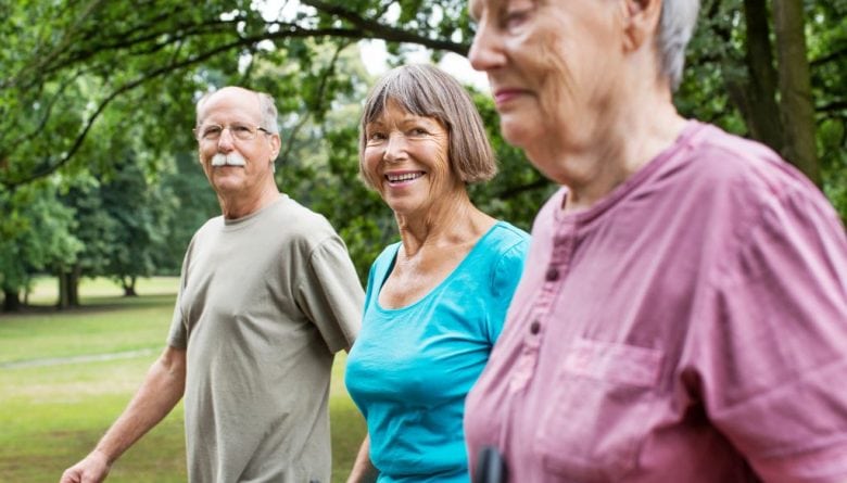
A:
<svg viewBox="0 0 847 483">
<path fill-rule="evenodd" d="M 193 231 L 219 213 L 197 165 L 194 101 L 224 85 L 277 99 L 283 191 L 325 214 L 363 278 L 396 239 L 357 178 L 357 120 L 375 78 L 361 41 L 389 63 L 464 55 L 465 0 L 0 0 L 0 288 L 26 302 L 58 276 L 60 306 L 81 277 L 177 274 Z M 847 0 L 703 0 L 680 111 L 758 139 L 818 183 L 847 218 Z M 501 162 L 473 187 L 494 216 L 529 229 L 555 189 L 498 134 L 469 87 Z"/>
</svg>

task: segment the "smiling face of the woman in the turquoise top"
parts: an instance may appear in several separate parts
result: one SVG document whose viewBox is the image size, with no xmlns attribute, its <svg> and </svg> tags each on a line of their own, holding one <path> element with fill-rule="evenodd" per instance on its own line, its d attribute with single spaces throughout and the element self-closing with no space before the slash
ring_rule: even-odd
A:
<svg viewBox="0 0 847 483">
<path fill-rule="evenodd" d="M 450 136 L 435 118 L 389 101 L 365 125 L 362 171 L 397 215 L 426 216 L 464 185 L 450 166 Z"/>
</svg>

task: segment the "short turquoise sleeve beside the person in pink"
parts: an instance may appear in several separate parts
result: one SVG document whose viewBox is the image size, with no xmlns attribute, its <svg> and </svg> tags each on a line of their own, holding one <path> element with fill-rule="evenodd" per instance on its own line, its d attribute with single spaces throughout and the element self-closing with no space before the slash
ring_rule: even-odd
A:
<svg viewBox="0 0 847 483">
<path fill-rule="evenodd" d="M 492 300 L 489 304 L 488 327 L 489 341 L 493 345 L 503 332 L 506 313 L 520 276 L 523 274 L 523 262 L 529 251 L 529 238 L 516 242 L 506 250 L 494 266 L 491 280 Z"/>
</svg>

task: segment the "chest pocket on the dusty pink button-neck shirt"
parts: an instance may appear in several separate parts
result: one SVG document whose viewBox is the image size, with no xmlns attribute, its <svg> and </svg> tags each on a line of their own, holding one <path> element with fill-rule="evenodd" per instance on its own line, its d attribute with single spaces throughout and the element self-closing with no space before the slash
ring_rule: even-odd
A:
<svg viewBox="0 0 847 483">
<path fill-rule="evenodd" d="M 557 368 L 535 435 L 545 468 L 569 481 L 620 481 L 637 465 L 657 404 L 660 349 L 580 339 Z"/>
</svg>

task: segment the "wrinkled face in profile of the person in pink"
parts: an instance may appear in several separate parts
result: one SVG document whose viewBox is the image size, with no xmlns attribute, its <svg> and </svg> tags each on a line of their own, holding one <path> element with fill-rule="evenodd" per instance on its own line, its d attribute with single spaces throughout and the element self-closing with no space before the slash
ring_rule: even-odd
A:
<svg viewBox="0 0 847 483">
<path fill-rule="evenodd" d="M 625 60 L 618 0 L 471 0 L 470 62 L 488 74 L 503 135 L 548 177 L 598 142 Z"/>
</svg>

